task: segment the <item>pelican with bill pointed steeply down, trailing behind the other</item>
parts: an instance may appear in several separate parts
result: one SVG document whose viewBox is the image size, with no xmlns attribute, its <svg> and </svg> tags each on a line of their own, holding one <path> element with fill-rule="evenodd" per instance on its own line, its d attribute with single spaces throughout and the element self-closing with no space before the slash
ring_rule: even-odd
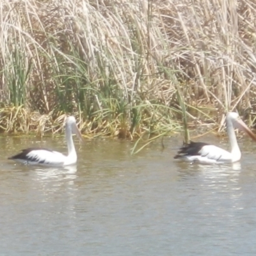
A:
<svg viewBox="0 0 256 256">
<path fill-rule="evenodd" d="M 23 164 L 39 164 L 44 166 L 67 166 L 76 164 L 77 154 L 72 133 L 75 133 L 80 141 L 83 141 L 81 132 L 77 128 L 74 116 L 68 116 L 65 122 L 65 135 L 68 146 L 68 155 L 47 148 L 26 148 L 15 156 L 8 157 Z"/>
</svg>

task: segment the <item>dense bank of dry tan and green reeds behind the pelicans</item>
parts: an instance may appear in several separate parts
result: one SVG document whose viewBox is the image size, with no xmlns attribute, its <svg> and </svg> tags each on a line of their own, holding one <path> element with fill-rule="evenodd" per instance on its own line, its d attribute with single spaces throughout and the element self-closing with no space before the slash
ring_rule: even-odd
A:
<svg viewBox="0 0 256 256">
<path fill-rule="evenodd" d="M 233 109 L 253 125 L 254 0 L 2 0 L 0 12 L 1 131 L 58 132 L 67 113 L 86 134 L 132 139 Z"/>
</svg>

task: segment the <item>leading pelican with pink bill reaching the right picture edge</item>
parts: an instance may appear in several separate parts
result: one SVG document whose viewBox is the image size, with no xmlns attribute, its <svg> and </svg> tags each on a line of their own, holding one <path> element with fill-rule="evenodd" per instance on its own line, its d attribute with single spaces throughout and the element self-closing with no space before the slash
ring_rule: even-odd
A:
<svg viewBox="0 0 256 256">
<path fill-rule="evenodd" d="M 204 164 L 235 163 L 239 161 L 241 159 L 241 151 L 237 144 L 234 128 L 246 132 L 255 141 L 256 136 L 235 112 L 227 113 L 226 123 L 231 152 L 204 142 L 191 141 L 180 148 L 178 154 L 174 158 L 186 162 L 198 162 Z"/>
</svg>

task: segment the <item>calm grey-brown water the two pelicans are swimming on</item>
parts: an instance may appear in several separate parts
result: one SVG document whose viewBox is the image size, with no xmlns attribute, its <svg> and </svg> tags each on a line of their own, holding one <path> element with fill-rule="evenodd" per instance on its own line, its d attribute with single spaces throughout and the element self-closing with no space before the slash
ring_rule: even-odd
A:
<svg viewBox="0 0 256 256">
<path fill-rule="evenodd" d="M 6 157 L 63 138 L 0 138 L 0 255 L 255 255 L 256 144 L 207 166 L 173 161 L 180 141 L 86 140 L 77 167 L 40 168 Z"/>
</svg>

